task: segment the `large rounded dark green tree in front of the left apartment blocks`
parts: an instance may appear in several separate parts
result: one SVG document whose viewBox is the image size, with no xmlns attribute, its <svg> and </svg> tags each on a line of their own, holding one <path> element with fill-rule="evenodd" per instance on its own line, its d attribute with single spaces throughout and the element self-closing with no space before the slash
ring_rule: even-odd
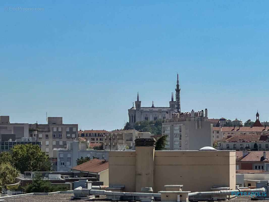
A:
<svg viewBox="0 0 269 202">
<path fill-rule="evenodd" d="M 21 173 L 51 171 L 51 163 L 38 145 L 15 145 L 11 149 L 12 162 Z"/>
</svg>

